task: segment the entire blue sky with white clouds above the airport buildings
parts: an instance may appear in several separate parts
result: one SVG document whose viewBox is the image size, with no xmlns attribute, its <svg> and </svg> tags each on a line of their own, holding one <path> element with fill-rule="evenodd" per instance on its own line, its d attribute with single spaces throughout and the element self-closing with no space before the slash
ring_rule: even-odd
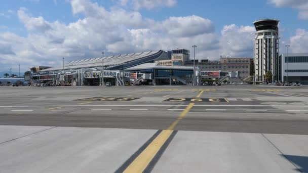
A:
<svg viewBox="0 0 308 173">
<path fill-rule="evenodd" d="M 189 49 L 253 57 L 253 21 L 280 20 L 280 53 L 308 53 L 308 0 L 3 0 L 0 75 L 84 58 Z"/>
</svg>

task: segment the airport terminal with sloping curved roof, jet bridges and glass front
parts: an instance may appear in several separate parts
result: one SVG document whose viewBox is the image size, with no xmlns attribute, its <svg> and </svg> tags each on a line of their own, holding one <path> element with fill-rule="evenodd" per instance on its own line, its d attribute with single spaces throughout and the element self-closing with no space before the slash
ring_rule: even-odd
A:
<svg viewBox="0 0 308 173">
<path fill-rule="evenodd" d="M 60 67 L 32 70 L 31 79 L 34 82 L 56 85 L 101 85 L 102 78 L 112 85 L 191 82 L 193 67 L 162 66 L 155 63 L 161 60 L 171 60 L 171 56 L 168 56 L 168 52 L 159 50 L 76 60 Z"/>
</svg>

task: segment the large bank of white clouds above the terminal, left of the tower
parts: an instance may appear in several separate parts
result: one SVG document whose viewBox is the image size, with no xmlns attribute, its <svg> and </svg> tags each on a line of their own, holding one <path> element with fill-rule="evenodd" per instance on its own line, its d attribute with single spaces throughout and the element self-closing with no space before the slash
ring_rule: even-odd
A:
<svg viewBox="0 0 308 173">
<path fill-rule="evenodd" d="M 254 28 L 250 26 L 228 25 L 220 36 L 214 32 L 210 19 L 199 16 L 155 21 L 136 11 L 115 7 L 106 10 L 85 0 L 72 0 L 70 4 L 73 15 L 84 17 L 68 24 L 46 21 L 42 16 L 31 16 L 25 8 L 19 9 L 19 20 L 28 35 L 0 32 L 0 44 L 10 50 L 0 49 L 0 68 L 16 63 L 23 67 L 60 65 L 62 57 L 66 61 L 99 57 L 102 50 L 106 55 L 172 48 L 185 48 L 192 53 L 192 45 L 198 46 L 198 59 L 252 55 Z"/>
</svg>

